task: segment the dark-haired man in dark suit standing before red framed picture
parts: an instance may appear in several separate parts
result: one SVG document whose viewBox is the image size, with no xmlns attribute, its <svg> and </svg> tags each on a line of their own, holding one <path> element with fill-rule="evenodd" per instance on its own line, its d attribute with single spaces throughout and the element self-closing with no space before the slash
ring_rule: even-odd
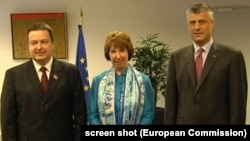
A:
<svg viewBox="0 0 250 141">
<path fill-rule="evenodd" d="M 6 71 L 1 97 L 2 141 L 80 141 L 87 124 L 79 70 L 53 58 L 54 37 L 45 23 L 27 31 L 31 59 Z M 48 90 L 40 80 L 46 67 Z"/>
</svg>

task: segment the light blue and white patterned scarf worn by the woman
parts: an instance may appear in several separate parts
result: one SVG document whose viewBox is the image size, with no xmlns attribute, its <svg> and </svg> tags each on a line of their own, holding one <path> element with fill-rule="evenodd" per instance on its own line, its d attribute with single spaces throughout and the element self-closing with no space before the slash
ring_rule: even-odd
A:
<svg viewBox="0 0 250 141">
<path fill-rule="evenodd" d="M 130 65 L 127 68 L 124 95 L 121 97 L 123 125 L 137 125 L 144 106 L 145 86 L 141 74 Z M 103 125 L 115 125 L 115 70 L 112 67 L 101 79 L 98 110 Z"/>
</svg>

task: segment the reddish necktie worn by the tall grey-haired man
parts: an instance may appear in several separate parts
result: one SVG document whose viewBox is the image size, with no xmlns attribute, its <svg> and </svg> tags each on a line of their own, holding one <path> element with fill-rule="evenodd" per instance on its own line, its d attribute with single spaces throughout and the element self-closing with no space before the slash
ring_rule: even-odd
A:
<svg viewBox="0 0 250 141">
<path fill-rule="evenodd" d="M 198 55 L 197 55 L 196 60 L 195 60 L 197 82 L 199 82 L 200 77 L 201 77 L 201 73 L 202 73 L 202 67 L 203 67 L 202 52 L 203 51 L 204 51 L 203 48 L 200 47 L 198 50 Z"/>
</svg>

